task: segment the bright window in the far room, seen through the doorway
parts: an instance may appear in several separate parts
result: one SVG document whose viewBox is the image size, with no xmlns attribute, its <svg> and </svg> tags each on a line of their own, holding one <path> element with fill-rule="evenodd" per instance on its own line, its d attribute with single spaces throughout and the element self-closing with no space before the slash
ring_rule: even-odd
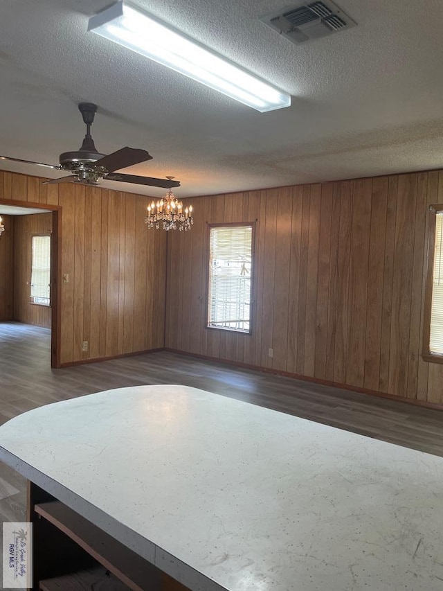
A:
<svg viewBox="0 0 443 591">
<path fill-rule="evenodd" d="M 30 301 L 49 306 L 51 283 L 51 236 L 33 236 Z"/>
</svg>

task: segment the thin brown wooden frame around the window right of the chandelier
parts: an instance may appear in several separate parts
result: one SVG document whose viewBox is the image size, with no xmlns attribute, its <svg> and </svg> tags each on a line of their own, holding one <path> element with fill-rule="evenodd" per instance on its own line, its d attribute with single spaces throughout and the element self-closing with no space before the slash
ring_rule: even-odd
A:
<svg viewBox="0 0 443 591">
<path fill-rule="evenodd" d="M 249 330 L 227 328 L 226 326 L 211 326 L 209 324 L 209 280 L 210 280 L 210 231 L 213 228 L 251 227 L 251 297 L 249 304 Z M 221 330 L 236 335 L 251 336 L 255 323 L 255 221 L 254 222 L 220 222 L 217 224 L 206 223 L 206 314 L 205 328 L 208 330 Z"/>
</svg>

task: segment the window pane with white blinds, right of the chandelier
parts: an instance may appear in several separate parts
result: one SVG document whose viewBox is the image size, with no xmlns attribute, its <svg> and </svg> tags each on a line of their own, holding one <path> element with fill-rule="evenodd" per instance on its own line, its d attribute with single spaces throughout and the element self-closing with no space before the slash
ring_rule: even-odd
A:
<svg viewBox="0 0 443 591">
<path fill-rule="evenodd" d="M 251 332 L 253 225 L 210 227 L 208 326 Z"/>
</svg>

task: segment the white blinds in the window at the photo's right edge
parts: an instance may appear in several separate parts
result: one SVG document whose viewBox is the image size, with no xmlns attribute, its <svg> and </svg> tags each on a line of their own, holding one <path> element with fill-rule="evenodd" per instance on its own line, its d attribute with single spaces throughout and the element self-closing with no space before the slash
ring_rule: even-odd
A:
<svg viewBox="0 0 443 591">
<path fill-rule="evenodd" d="M 435 216 L 435 252 L 429 351 L 443 355 L 443 211 Z"/>
</svg>

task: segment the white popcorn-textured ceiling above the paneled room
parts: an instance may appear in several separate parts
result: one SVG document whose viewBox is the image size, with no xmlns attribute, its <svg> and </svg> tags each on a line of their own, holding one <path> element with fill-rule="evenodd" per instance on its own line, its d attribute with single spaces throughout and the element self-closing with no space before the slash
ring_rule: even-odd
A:
<svg viewBox="0 0 443 591">
<path fill-rule="evenodd" d="M 98 150 L 149 150 L 125 172 L 175 175 L 181 197 L 443 166 L 440 0 L 339 0 L 358 26 L 299 46 L 259 21 L 287 0 L 134 3 L 288 91 L 292 106 L 260 114 L 87 33 L 109 0 L 3 0 L 1 155 L 57 164 L 80 147 L 86 100 L 99 105 Z"/>
</svg>

